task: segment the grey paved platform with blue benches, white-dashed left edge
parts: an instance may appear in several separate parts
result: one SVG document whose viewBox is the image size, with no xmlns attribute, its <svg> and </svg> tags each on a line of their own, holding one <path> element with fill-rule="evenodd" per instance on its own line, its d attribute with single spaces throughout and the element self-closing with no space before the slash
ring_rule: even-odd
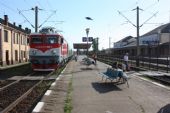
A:
<svg viewBox="0 0 170 113">
<path fill-rule="evenodd" d="M 70 82 L 72 113 L 161 113 L 170 104 L 169 87 L 142 79 L 142 73 L 134 71 L 127 73 L 129 88 L 102 81 L 100 73 L 109 66 L 97 62 L 87 67 L 81 63 L 84 57 L 69 62 L 32 113 L 64 113 Z"/>
</svg>

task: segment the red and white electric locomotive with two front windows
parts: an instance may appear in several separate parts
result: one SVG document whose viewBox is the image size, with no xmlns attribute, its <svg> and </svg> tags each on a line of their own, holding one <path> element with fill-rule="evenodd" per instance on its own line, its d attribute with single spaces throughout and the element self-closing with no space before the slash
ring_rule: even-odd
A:
<svg viewBox="0 0 170 113">
<path fill-rule="evenodd" d="M 71 55 L 68 43 L 53 27 L 30 34 L 29 45 L 29 58 L 34 71 L 53 71 Z"/>
</svg>

